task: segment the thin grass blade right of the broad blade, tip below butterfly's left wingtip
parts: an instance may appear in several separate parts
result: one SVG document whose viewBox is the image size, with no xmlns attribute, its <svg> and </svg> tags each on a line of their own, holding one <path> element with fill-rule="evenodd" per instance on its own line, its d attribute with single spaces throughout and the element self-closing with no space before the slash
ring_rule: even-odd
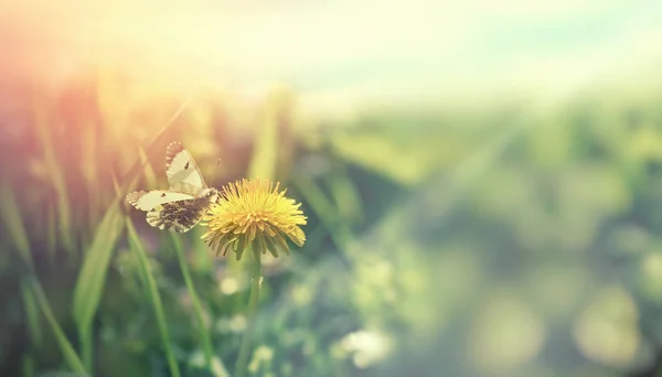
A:
<svg viewBox="0 0 662 377">
<path fill-rule="evenodd" d="M 138 257 L 140 273 L 147 282 L 149 297 L 151 299 L 154 314 L 157 316 L 157 323 L 159 325 L 159 332 L 161 333 L 161 340 L 163 341 L 163 349 L 166 351 L 166 358 L 168 359 L 168 366 L 170 367 L 170 374 L 174 377 L 180 376 L 179 367 L 177 365 L 177 360 L 174 359 L 174 353 L 172 347 L 170 346 L 170 334 L 168 333 L 168 323 L 166 322 L 166 314 L 163 312 L 163 305 L 161 304 L 161 297 L 159 295 L 159 290 L 157 288 L 157 282 L 154 277 L 149 268 L 149 263 L 147 260 L 147 255 L 145 254 L 145 248 L 142 247 L 142 243 L 140 238 L 138 238 L 138 234 L 136 233 L 136 228 L 131 223 L 131 219 L 126 217 L 126 226 L 127 234 L 129 239 L 129 246 L 131 251 Z"/>
</svg>

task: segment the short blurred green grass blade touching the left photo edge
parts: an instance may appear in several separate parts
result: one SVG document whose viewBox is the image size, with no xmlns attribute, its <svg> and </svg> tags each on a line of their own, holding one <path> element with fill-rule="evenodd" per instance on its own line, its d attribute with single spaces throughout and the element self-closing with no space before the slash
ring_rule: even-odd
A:
<svg viewBox="0 0 662 377">
<path fill-rule="evenodd" d="M 3 186 L 0 192 L 0 215 L 9 233 L 9 238 L 19 251 L 21 259 L 25 265 L 33 269 L 34 262 L 30 252 L 30 241 L 28 233 L 23 226 L 21 211 L 17 205 L 15 197 L 9 186 Z"/>
</svg>

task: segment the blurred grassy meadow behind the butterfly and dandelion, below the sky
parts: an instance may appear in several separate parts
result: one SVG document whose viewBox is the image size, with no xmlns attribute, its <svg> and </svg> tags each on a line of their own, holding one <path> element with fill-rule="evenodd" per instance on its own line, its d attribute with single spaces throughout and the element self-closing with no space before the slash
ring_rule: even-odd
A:
<svg viewBox="0 0 662 377">
<path fill-rule="evenodd" d="M 662 89 L 352 119 L 98 73 L 17 88 L 0 154 L 0 375 L 652 375 L 662 347 Z M 216 257 L 125 201 L 171 141 L 207 183 L 268 177 L 303 247 Z"/>
</svg>

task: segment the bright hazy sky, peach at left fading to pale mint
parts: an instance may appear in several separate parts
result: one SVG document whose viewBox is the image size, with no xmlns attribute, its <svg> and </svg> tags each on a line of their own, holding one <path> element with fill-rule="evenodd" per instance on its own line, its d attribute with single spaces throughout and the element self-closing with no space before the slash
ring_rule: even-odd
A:
<svg viewBox="0 0 662 377">
<path fill-rule="evenodd" d="M 237 95 L 284 83 L 337 109 L 572 89 L 662 63 L 659 0 L 42 3 L 0 4 L 6 78 L 102 61 Z"/>
</svg>

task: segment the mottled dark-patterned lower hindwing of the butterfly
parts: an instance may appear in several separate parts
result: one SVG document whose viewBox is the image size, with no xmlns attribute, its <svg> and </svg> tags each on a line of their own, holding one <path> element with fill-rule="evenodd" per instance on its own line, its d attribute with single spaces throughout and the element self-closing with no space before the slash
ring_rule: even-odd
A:
<svg viewBox="0 0 662 377">
<path fill-rule="evenodd" d="M 147 213 L 147 223 L 159 229 L 184 233 L 202 219 L 209 206 L 207 197 L 163 203 Z"/>
</svg>

